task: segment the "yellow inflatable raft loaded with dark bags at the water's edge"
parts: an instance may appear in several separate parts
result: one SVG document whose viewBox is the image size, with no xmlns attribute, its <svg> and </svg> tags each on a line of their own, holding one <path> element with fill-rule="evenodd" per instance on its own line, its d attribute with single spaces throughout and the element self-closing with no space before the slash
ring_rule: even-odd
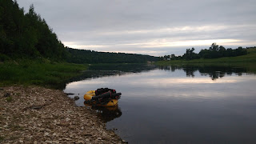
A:
<svg viewBox="0 0 256 144">
<path fill-rule="evenodd" d="M 118 106 L 118 99 L 121 93 L 112 89 L 98 89 L 87 91 L 84 95 L 85 103 L 96 106 Z"/>
</svg>

